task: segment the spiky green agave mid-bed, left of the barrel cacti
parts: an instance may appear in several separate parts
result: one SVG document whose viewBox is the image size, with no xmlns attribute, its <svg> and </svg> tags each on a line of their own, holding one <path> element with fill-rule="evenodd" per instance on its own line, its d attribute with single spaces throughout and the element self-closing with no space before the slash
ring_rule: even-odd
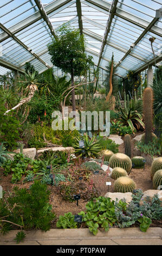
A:
<svg viewBox="0 0 162 256">
<path fill-rule="evenodd" d="M 83 140 L 85 142 L 85 148 L 84 148 L 84 154 L 86 157 L 96 157 L 98 156 L 99 152 L 102 150 L 100 141 L 95 142 L 95 136 L 93 136 L 91 139 L 88 138 L 88 135 L 83 135 Z M 75 153 L 79 154 L 79 157 L 82 156 L 82 149 L 79 148 L 79 141 L 80 139 L 77 138 L 78 143 L 76 145 L 73 145 L 75 148 Z"/>
</svg>

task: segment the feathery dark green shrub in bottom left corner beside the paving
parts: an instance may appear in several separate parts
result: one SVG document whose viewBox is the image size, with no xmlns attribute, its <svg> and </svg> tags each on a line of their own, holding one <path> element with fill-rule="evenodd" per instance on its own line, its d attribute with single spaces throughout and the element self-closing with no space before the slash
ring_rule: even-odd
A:
<svg viewBox="0 0 162 256">
<path fill-rule="evenodd" d="M 49 204 L 49 196 L 47 185 L 39 181 L 35 181 L 29 190 L 14 187 L 6 201 L 0 199 L 0 218 L 9 221 L 1 223 L 1 233 L 11 230 L 14 224 L 25 230 L 49 230 L 51 221 L 56 217 Z"/>
</svg>

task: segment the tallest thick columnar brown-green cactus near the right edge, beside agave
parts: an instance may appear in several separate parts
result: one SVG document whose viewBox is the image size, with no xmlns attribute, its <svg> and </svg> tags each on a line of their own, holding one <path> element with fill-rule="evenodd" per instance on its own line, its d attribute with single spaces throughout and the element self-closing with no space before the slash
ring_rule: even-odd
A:
<svg viewBox="0 0 162 256">
<path fill-rule="evenodd" d="M 153 90 L 145 88 L 143 96 L 143 112 L 145 120 L 145 144 L 152 142 Z"/>
</svg>

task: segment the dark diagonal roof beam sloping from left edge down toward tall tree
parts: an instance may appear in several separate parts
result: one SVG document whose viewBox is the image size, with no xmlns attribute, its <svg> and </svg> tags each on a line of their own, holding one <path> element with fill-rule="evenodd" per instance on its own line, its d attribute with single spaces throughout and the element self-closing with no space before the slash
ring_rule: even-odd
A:
<svg viewBox="0 0 162 256">
<path fill-rule="evenodd" d="M 25 50 L 27 50 L 28 52 L 30 52 L 36 59 L 38 59 L 40 62 L 42 62 L 45 66 L 47 66 L 47 68 L 51 68 L 49 65 L 47 65 L 46 62 L 44 62 L 40 57 L 37 56 L 36 53 L 34 53 L 27 45 L 23 44 L 23 42 L 17 38 L 17 36 L 15 36 L 14 34 L 12 34 L 8 28 L 4 27 L 2 25 L 2 23 L 0 23 L 0 28 L 7 33 L 9 36 L 11 36 L 16 42 L 18 42 L 18 44 L 20 44 L 23 48 L 25 48 Z"/>
</svg>

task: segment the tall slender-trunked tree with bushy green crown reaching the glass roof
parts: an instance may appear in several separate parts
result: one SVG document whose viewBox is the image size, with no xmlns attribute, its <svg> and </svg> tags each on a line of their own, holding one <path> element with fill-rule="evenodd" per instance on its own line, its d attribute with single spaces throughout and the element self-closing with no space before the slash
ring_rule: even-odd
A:
<svg viewBox="0 0 162 256">
<path fill-rule="evenodd" d="M 94 63 L 92 56 L 86 56 L 85 38 L 80 34 L 79 29 L 63 25 L 56 30 L 57 38 L 53 38 L 48 44 L 48 51 L 51 56 L 51 63 L 63 72 L 71 75 L 72 87 L 74 76 L 80 76 L 86 68 Z M 75 107 L 75 90 L 72 90 L 73 111 Z"/>
</svg>

